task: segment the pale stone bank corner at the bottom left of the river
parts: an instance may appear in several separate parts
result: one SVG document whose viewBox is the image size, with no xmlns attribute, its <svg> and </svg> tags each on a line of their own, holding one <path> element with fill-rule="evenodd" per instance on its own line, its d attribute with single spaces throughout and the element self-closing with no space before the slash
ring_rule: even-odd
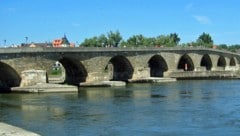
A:
<svg viewBox="0 0 240 136">
<path fill-rule="evenodd" d="M 0 122 L 0 136 L 40 136 L 39 134 Z"/>
</svg>

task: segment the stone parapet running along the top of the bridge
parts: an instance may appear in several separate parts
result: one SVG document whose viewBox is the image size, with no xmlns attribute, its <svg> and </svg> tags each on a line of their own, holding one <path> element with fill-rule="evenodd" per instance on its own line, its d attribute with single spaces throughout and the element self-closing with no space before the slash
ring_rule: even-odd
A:
<svg viewBox="0 0 240 136">
<path fill-rule="evenodd" d="M 230 51 L 205 48 L 205 47 L 64 47 L 64 48 L 54 48 L 54 47 L 19 47 L 19 48 L 0 48 L 0 54 L 5 53 L 34 53 L 34 52 L 119 52 L 119 51 L 209 51 L 209 52 L 219 52 L 219 53 L 227 53 L 231 55 L 239 56 L 237 53 L 233 53 Z"/>
</svg>

